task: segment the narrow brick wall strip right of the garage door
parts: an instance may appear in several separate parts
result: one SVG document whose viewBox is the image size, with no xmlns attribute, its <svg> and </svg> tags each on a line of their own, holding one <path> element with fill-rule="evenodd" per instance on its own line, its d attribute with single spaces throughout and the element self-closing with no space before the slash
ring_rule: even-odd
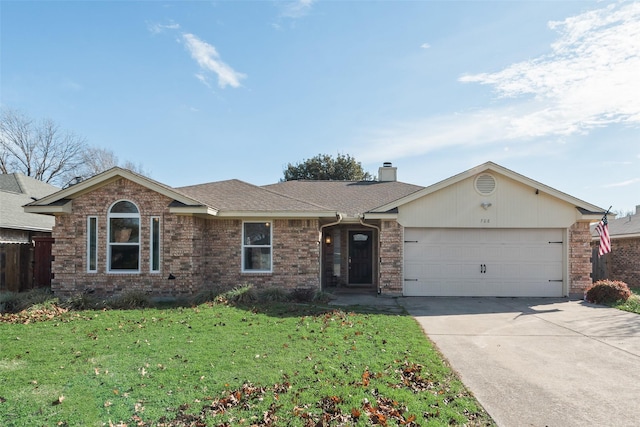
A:
<svg viewBox="0 0 640 427">
<path fill-rule="evenodd" d="M 591 231 L 588 222 L 569 228 L 569 294 L 583 295 L 591 286 Z"/>
</svg>

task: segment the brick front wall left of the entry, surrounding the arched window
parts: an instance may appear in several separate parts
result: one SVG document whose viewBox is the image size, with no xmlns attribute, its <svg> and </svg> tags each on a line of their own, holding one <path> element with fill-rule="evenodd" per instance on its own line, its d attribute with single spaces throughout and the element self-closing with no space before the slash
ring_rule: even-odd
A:
<svg viewBox="0 0 640 427">
<path fill-rule="evenodd" d="M 140 273 L 107 272 L 107 213 L 119 200 L 140 210 Z M 60 296 L 128 290 L 155 296 L 189 295 L 210 284 L 320 289 L 317 220 L 273 221 L 273 272 L 241 272 L 242 221 L 169 213 L 171 199 L 119 179 L 73 200 L 73 213 L 56 217 L 52 290 Z M 87 272 L 87 217 L 98 218 L 98 271 Z M 151 273 L 150 221 L 160 217 L 160 272 Z M 169 275 L 175 279 L 169 280 Z"/>
</svg>

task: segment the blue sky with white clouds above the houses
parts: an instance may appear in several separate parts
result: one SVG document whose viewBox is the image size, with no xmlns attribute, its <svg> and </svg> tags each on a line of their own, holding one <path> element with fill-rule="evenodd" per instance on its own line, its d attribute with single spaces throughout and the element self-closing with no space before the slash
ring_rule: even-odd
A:
<svg viewBox="0 0 640 427">
<path fill-rule="evenodd" d="M 640 205 L 640 2 L 6 1 L 0 102 L 171 186 L 349 154 Z"/>
</svg>

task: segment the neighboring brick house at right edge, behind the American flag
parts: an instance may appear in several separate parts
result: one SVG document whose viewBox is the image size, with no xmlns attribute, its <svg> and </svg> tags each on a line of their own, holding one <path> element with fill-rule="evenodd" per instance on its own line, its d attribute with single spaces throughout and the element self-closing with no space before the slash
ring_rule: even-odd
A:
<svg viewBox="0 0 640 427">
<path fill-rule="evenodd" d="M 609 218 L 611 252 L 598 257 L 600 236 L 591 227 L 594 279 L 621 280 L 631 287 L 640 287 L 640 205 L 635 214 Z"/>
</svg>

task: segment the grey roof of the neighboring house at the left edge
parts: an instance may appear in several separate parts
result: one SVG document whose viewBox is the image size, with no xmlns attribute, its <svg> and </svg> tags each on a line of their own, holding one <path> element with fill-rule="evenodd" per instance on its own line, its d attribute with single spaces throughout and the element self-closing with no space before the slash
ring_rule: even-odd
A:
<svg viewBox="0 0 640 427">
<path fill-rule="evenodd" d="M 57 190 L 58 187 L 21 173 L 0 174 L 0 227 L 51 231 L 54 218 L 26 213 L 22 207 Z"/>
</svg>

